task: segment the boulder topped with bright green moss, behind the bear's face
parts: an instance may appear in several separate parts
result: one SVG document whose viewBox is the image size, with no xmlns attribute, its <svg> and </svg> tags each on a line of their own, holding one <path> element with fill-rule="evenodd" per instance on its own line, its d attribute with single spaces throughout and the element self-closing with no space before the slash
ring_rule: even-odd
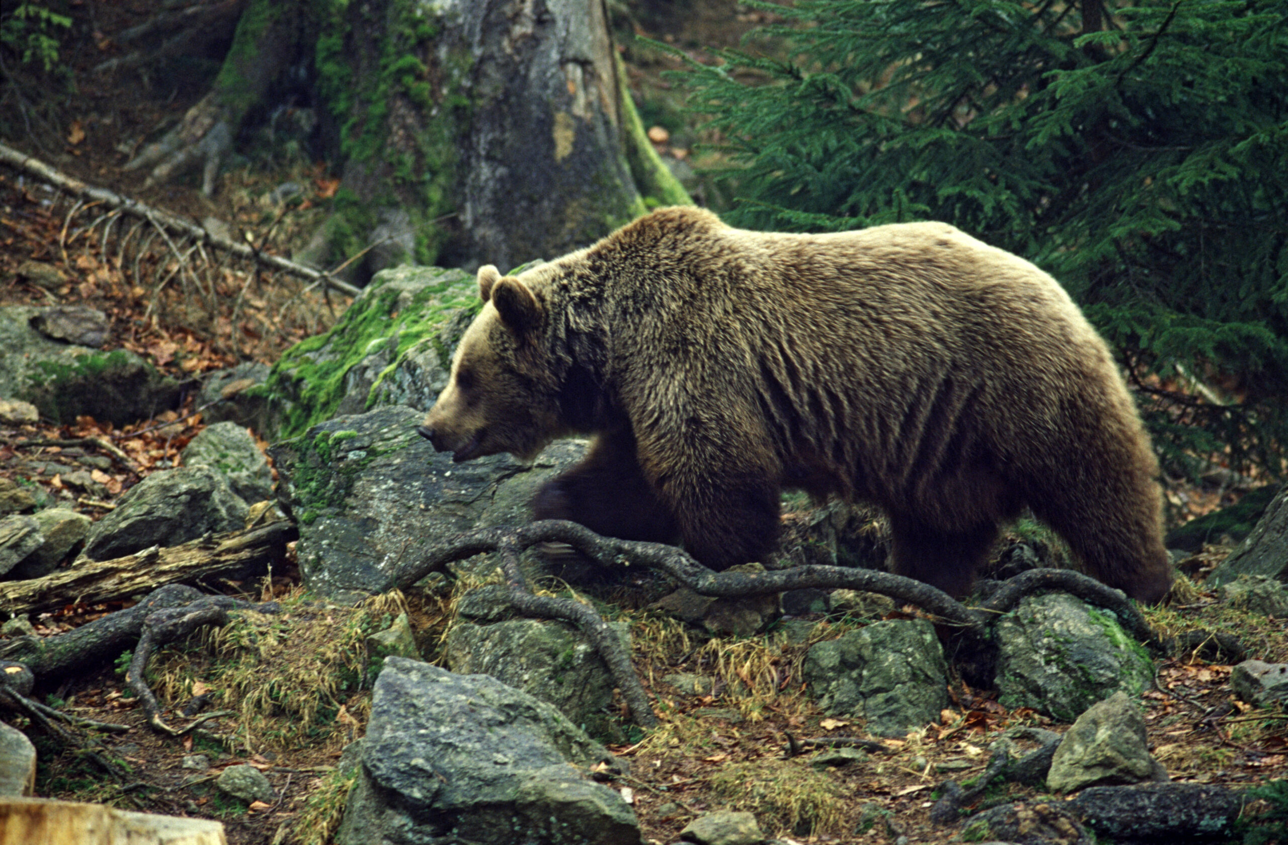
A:
<svg viewBox="0 0 1288 845">
<path fill-rule="evenodd" d="M 330 331 L 287 349 L 268 381 L 247 390 L 267 397 L 256 428 L 269 439 L 286 439 L 377 404 L 428 410 L 480 307 L 475 278 L 462 271 L 377 273 Z"/>
</svg>

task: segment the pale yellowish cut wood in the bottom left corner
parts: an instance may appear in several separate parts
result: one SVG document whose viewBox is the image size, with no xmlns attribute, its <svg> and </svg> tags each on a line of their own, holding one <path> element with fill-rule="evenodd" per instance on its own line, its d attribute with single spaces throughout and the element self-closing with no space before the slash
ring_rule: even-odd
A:
<svg viewBox="0 0 1288 845">
<path fill-rule="evenodd" d="M 130 813 L 102 804 L 0 799 L 0 842 L 31 845 L 228 845 L 211 819 Z"/>
</svg>

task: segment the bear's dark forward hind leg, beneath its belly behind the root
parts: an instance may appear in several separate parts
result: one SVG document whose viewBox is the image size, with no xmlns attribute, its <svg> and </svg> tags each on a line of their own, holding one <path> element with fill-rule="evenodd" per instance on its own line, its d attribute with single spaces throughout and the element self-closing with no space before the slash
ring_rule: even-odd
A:
<svg viewBox="0 0 1288 845">
<path fill-rule="evenodd" d="M 918 519 L 891 515 L 890 529 L 894 573 L 939 587 L 953 598 L 970 594 L 975 569 L 997 540 L 993 522 L 947 532 Z"/>
</svg>

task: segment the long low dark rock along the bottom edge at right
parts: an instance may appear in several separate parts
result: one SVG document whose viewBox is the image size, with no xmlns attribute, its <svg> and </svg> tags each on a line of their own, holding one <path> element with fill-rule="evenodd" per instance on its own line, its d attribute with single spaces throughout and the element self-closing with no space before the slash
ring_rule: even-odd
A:
<svg viewBox="0 0 1288 845">
<path fill-rule="evenodd" d="M 1222 786 L 1142 783 L 1088 787 L 1065 806 L 1114 842 L 1229 842 L 1244 801 Z"/>
</svg>

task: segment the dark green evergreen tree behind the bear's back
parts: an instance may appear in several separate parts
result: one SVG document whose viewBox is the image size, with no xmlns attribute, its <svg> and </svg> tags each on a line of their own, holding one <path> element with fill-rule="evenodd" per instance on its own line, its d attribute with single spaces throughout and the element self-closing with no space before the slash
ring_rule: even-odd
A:
<svg viewBox="0 0 1288 845">
<path fill-rule="evenodd" d="M 730 222 L 953 223 L 1065 285 L 1170 471 L 1283 473 L 1288 0 L 760 8 L 765 50 L 680 75 Z"/>
</svg>

